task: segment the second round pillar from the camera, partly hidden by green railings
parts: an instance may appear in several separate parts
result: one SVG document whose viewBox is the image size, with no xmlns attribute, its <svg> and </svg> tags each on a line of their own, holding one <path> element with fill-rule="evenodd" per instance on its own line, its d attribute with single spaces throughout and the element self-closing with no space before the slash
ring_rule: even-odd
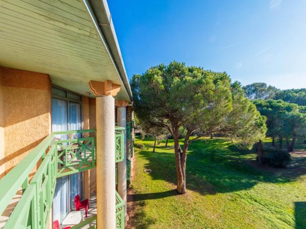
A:
<svg viewBox="0 0 306 229">
<path fill-rule="evenodd" d="M 120 127 L 126 127 L 126 107 L 119 106 L 117 107 L 117 125 Z M 126 132 L 124 131 L 124 160 L 118 162 L 118 193 L 123 199 L 124 205 L 124 212 L 125 212 L 125 223 L 127 219 L 127 212 L 126 212 Z"/>
</svg>

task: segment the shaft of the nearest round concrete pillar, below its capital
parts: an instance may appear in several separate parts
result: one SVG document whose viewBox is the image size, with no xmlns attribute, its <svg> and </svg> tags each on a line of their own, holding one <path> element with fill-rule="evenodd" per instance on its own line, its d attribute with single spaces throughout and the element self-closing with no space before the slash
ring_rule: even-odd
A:
<svg viewBox="0 0 306 229">
<path fill-rule="evenodd" d="M 115 100 L 96 98 L 97 228 L 116 228 L 115 197 Z"/>
</svg>

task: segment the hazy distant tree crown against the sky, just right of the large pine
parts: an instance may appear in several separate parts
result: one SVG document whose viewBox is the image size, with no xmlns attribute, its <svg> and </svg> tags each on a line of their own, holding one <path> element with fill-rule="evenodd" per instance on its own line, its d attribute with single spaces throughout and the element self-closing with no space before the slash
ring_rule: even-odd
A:
<svg viewBox="0 0 306 229">
<path fill-rule="evenodd" d="M 243 87 L 245 97 L 248 99 L 272 99 L 279 89 L 264 82 L 254 82 Z"/>
</svg>

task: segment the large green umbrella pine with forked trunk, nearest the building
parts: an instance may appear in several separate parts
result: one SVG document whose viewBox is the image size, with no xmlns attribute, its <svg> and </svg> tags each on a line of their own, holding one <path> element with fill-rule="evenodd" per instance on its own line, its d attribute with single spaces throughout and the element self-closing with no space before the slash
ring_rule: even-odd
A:
<svg viewBox="0 0 306 229">
<path fill-rule="evenodd" d="M 225 72 L 171 62 L 134 75 L 131 87 L 138 119 L 165 127 L 173 135 L 179 193 L 186 192 L 186 153 L 192 141 L 216 132 L 247 145 L 265 137 L 265 118 L 244 97 L 240 83 L 231 83 Z M 183 149 L 182 126 L 187 130 Z"/>
</svg>

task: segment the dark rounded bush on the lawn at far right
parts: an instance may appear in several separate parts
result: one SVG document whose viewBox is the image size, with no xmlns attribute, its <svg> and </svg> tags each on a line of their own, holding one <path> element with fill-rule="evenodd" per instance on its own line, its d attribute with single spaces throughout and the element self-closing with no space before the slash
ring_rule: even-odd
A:
<svg viewBox="0 0 306 229">
<path fill-rule="evenodd" d="M 263 164 L 284 168 L 288 161 L 290 161 L 290 154 L 285 150 L 263 149 Z"/>
</svg>

